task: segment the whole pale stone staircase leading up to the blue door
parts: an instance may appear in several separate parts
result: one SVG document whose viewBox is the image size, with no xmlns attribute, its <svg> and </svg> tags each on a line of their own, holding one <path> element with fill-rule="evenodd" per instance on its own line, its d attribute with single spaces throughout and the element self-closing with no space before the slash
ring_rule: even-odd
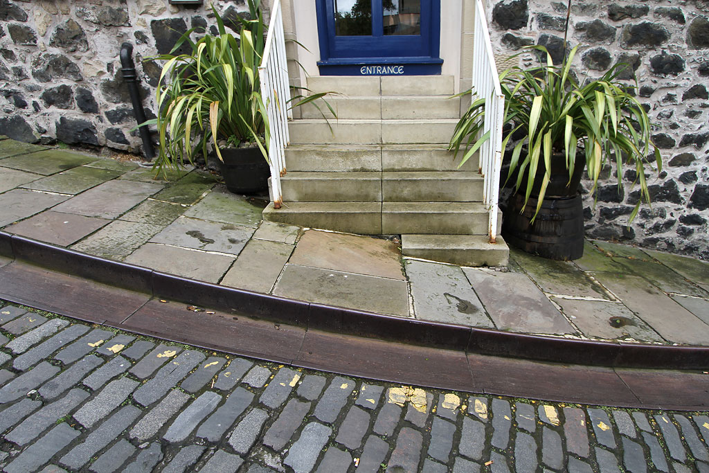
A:
<svg viewBox="0 0 709 473">
<path fill-rule="evenodd" d="M 289 123 L 284 204 L 264 219 L 401 235 L 412 257 L 507 265 L 502 238 L 488 242 L 476 160 L 458 169 L 446 149 L 460 113 L 452 76 L 311 77 L 308 88 L 342 94 L 328 99 L 337 119 L 308 105 Z"/>
</svg>

